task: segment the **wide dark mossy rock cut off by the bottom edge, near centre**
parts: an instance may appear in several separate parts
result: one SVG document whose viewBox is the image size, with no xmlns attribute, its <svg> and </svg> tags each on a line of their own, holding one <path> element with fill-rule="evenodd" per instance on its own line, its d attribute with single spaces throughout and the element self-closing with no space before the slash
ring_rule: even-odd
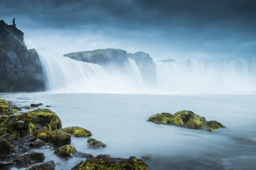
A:
<svg viewBox="0 0 256 170">
<path fill-rule="evenodd" d="M 129 159 L 112 158 L 108 155 L 100 154 L 97 157 L 87 159 L 79 166 L 75 166 L 73 169 L 78 170 L 148 170 L 149 166 L 141 159 L 136 157 L 129 157 Z"/>
</svg>

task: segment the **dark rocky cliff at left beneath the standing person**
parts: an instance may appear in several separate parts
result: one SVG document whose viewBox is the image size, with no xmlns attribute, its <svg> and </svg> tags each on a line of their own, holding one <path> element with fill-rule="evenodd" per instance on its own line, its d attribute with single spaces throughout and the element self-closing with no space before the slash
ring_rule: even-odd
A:
<svg viewBox="0 0 256 170">
<path fill-rule="evenodd" d="M 23 32 L 0 21 L 0 92 L 45 89 L 43 69 L 36 50 L 28 50 Z"/>
</svg>

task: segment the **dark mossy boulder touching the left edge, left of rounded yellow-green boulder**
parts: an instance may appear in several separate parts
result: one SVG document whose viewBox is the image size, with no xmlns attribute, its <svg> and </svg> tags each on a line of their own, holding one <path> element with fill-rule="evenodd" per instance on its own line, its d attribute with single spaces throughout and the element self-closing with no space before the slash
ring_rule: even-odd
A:
<svg viewBox="0 0 256 170">
<path fill-rule="evenodd" d="M 0 116 L 0 135 L 11 135 L 14 137 L 25 137 L 35 130 L 35 126 L 27 113 L 20 115 Z"/>
</svg>

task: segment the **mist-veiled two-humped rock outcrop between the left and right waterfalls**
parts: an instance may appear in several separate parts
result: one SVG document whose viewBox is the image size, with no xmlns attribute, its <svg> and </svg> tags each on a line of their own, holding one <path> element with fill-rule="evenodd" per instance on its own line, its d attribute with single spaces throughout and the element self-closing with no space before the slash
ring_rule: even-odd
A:
<svg viewBox="0 0 256 170">
<path fill-rule="evenodd" d="M 134 60 L 139 68 L 144 84 L 153 85 L 156 77 L 156 65 L 146 52 L 127 53 L 119 49 L 100 49 L 93 51 L 71 52 L 64 57 L 82 62 L 99 64 L 102 67 L 116 66 L 124 68 L 128 64 L 128 59 Z"/>
</svg>

